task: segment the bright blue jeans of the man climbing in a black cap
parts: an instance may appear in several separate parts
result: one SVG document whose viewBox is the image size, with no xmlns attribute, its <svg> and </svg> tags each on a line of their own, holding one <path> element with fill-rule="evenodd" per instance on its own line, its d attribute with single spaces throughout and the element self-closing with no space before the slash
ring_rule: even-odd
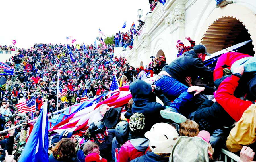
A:
<svg viewBox="0 0 256 162">
<path fill-rule="evenodd" d="M 155 81 L 155 85 L 160 86 L 165 95 L 177 97 L 169 107 L 176 108 L 178 111 L 181 106 L 193 98 L 193 94 L 187 92 L 188 87 L 172 77 L 163 75 Z"/>
</svg>

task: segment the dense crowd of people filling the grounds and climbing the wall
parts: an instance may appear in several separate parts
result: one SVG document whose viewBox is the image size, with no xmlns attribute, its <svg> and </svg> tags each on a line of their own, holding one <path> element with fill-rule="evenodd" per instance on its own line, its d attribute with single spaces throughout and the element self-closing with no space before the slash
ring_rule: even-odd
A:
<svg viewBox="0 0 256 162">
<path fill-rule="evenodd" d="M 17 49 L 18 54 L 6 60 L 15 71 L 3 76 L 7 81 L 0 92 L 0 131 L 22 127 L 1 134 L 0 161 L 18 161 L 26 146 L 28 121 L 40 115 L 43 98 L 48 99 L 47 111 L 53 113 L 56 106 L 61 110 L 81 102 L 84 92 L 88 99 L 110 91 L 115 77 L 118 84 L 129 85 L 132 98 L 124 103 L 126 113 L 101 104 L 102 120 L 93 121 L 82 136 L 50 131 L 50 162 L 221 161 L 221 148 L 240 155 L 240 162 L 255 161 L 254 54 L 228 51 L 218 57 L 212 71 L 204 65 L 210 56 L 206 47 L 185 37 L 191 46 L 177 40 L 177 58 L 172 62 L 162 55 L 150 57 L 152 62 L 145 68 L 134 68 L 125 57 L 113 54 L 114 47 L 132 43 L 132 38 L 129 33 L 116 35 L 115 44 L 106 48 L 87 45 L 85 52 L 83 45 L 69 45 L 73 61 L 65 44 L 35 44 Z M 59 86 L 66 87 L 67 94 L 56 103 L 58 73 Z M 154 82 L 148 83 L 142 73 L 155 76 Z M 34 96 L 36 110 L 20 113 L 16 105 Z"/>
</svg>

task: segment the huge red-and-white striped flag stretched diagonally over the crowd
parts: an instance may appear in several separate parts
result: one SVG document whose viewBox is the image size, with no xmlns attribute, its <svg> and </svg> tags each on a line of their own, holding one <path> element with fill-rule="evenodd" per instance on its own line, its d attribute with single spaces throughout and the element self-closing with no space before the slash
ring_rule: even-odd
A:
<svg viewBox="0 0 256 162">
<path fill-rule="evenodd" d="M 92 122 L 102 119 L 102 116 L 99 113 L 100 105 L 107 104 L 112 108 L 124 107 L 124 105 L 132 98 L 129 86 L 123 86 L 119 89 L 120 91 L 116 91 L 108 99 L 89 107 L 83 107 L 82 110 L 72 113 L 60 123 L 56 123 L 56 125 L 54 125 L 49 131 L 57 133 L 61 133 L 64 130 L 70 132 L 76 131 L 76 134 L 82 135 Z M 82 102 L 81 104 L 83 103 L 85 102 Z"/>
</svg>

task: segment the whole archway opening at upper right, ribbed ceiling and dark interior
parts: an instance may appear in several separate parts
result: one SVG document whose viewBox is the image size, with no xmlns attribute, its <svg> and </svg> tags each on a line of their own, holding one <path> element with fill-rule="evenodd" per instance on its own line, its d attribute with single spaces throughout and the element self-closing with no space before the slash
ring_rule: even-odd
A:
<svg viewBox="0 0 256 162">
<path fill-rule="evenodd" d="M 251 35 L 242 22 L 236 18 L 222 17 L 214 21 L 205 31 L 201 44 L 207 47 L 207 52 L 215 53 L 232 45 L 248 41 Z M 253 45 L 248 43 L 242 53 L 254 55 Z"/>
</svg>

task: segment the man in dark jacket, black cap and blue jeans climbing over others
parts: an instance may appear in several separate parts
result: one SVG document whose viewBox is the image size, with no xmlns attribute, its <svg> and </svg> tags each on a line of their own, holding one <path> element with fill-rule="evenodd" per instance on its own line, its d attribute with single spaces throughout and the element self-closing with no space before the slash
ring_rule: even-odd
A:
<svg viewBox="0 0 256 162">
<path fill-rule="evenodd" d="M 160 86 L 167 97 L 176 98 L 170 105 L 171 108 L 161 111 L 162 117 L 167 119 L 179 117 L 177 114 L 179 110 L 192 100 L 193 94 L 187 92 L 188 87 L 185 85 L 187 76 L 192 80 L 201 76 L 207 81 L 213 81 L 212 71 L 203 64 L 206 55 L 210 54 L 206 52 L 205 46 L 195 45 L 192 50 L 164 66 L 157 75 L 155 85 Z"/>
</svg>

